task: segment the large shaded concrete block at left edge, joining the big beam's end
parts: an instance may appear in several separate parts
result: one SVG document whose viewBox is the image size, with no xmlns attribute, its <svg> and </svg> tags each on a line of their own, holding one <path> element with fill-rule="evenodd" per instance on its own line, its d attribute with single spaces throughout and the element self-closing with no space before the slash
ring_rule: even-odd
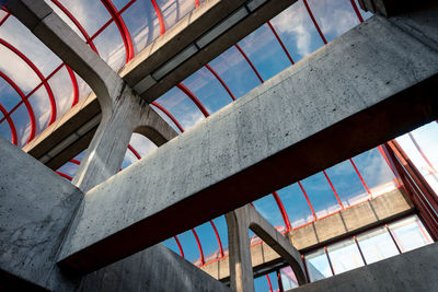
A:
<svg viewBox="0 0 438 292">
<path fill-rule="evenodd" d="M 0 151 L 0 290 L 73 289 L 56 261 L 83 194 L 2 138 Z"/>
</svg>

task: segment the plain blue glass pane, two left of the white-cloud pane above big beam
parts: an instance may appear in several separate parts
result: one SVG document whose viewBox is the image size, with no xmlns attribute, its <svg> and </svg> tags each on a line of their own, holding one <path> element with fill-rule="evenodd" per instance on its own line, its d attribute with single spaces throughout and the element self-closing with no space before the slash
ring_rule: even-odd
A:
<svg viewBox="0 0 438 292">
<path fill-rule="evenodd" d="M 223 79 L 235 98 L 261 84 L 250 65 L 234 46 L 209 65 Z"/>
</svg>

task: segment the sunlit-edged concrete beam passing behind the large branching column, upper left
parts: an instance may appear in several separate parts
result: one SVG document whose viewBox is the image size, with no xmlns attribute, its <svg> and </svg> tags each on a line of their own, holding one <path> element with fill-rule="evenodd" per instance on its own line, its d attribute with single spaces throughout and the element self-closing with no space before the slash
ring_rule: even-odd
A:
<svg viewBox="0 0 438 292">
<path fill-rule="evenodd" d="M 154 101 L 161 94 L 208 63 L 263 23 L 295 3 L 296 0 L 268 0 L 266 3 L 263 2 L 264 1 L 260 0 L 246 2 L 243 0 L 204 1 L 197 9 L 188 13 L 176 25 L 171 27 L 164 35 L 150 44 L 136 56 L 136 58 L 127 63 L 120 70 L 120 77 L 138 93 L 141 93 L 143 98 L 149 102 Z M 256 3 L 263 4 L 257 7 L 255 12 L 249 12 L 247 16 L 231 25 L 231 27 L 217 39 L 214 39 L 212 43 L 206 45 L 200 51 L 178 65 L 175 70 L 169 72 L 169 74 L 158 80 L 158 82 L 153 81 L 151 87 L 146 90 L 145 84 L 148 83 L 147 81 L 150 80 L 150 75 L 153 71 L 160 69 L 168 60 L 177 55 L 178 51 L 176 51 L 175 48 L 183 49 L 194 44 L 201 35 L 206 34 L 210 28 L 232 14 L 234 10 L 242 8 L 244 3 L 246 3 L 249 8 L 247 11 L 255 8 Z M 89 82 L 89 79 L 84 80 Z M 61 127 L 55 127 L 53 125 L 51 128 L 47 128 L 39 137 L 34 139 L 32 143 L 27 144 L 24 151 L 36 159 L 42 159 L 54 145 L 61 143 L 66 137 L 73 133 L 82 124 L 91 120 L 99 114 L 100 108 L 94 94 L 89 96 L 88 101 L 92 110 L 88 110 L 88 108 L 83 110 L 71 109 L 66 115 L 69 118 L 65 119 Z M 94 108 L 97 109 L 94 110 Z M 69 148 L 58 153 L 56 157 L 50 159 L 48 166 L 56 170 L 81 152 L 80 150 L 84 150 L 89 142 L 90 139 L 81 139 L 71 142 Z M 48 162 L 45 160 L 42 161 L 45 163 Z"/>
</svg>

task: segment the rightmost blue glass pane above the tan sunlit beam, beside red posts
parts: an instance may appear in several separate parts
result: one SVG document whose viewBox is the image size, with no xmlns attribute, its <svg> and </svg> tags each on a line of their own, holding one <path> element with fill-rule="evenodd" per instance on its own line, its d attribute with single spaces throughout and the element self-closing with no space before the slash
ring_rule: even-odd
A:
<svg viewBox="0 0 438 292">
<path fill-rule="evenodd" d="M 373 197 L 397 187 L 394 173 L 377 148 L 351 159 Z"/>
</svg>

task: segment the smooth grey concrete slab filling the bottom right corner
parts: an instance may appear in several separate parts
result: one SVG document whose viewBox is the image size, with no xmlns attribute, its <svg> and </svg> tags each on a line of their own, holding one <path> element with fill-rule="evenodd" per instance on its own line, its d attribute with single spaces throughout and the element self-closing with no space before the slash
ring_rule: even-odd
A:
<svg viewBox="0 0 438 292">
<path fill-rule="evenodd" d="M 296 288 L 313 291 L 437 291 L 438 244 L 397 255 L 369 266 Z"/>
</svg>

